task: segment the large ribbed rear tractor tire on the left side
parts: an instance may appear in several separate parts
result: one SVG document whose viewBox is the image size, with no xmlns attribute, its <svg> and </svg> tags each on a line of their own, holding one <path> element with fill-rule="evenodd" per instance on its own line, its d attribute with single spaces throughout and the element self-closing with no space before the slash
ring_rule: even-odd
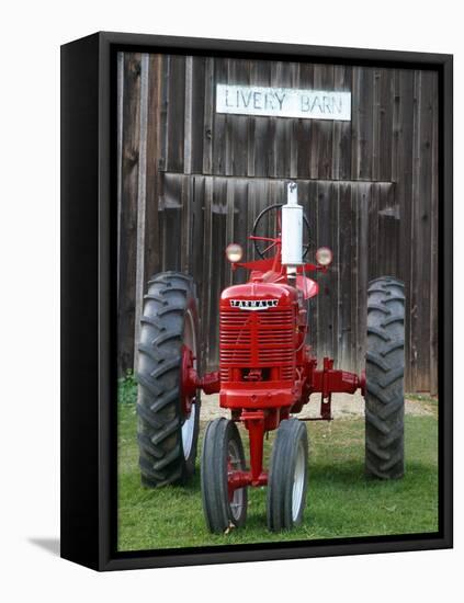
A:
<svg viewBox="0 0 464 603">
<path fill-rule="evenodd" d="M 195 468 L 200 394 L 186 406 L 181 384 L 184 349 L 196 356 L 197 321 L 191 276 L 163 272 L 149 281 L 136 372 L 139 467 L 145 486 L 184 483 Z"/>
</svg>

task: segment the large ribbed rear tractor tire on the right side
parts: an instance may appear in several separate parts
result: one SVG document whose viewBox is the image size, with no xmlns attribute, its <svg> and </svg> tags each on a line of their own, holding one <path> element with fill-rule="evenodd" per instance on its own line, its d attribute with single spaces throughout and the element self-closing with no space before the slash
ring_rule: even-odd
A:
<svg viewBox="0 0 464 603">
<path fill-rule="evenodd" d="M 380 479 L 404 475 L 404 284 L 388 276 L 367 289 L 365 469 Z"/>
</svg>

